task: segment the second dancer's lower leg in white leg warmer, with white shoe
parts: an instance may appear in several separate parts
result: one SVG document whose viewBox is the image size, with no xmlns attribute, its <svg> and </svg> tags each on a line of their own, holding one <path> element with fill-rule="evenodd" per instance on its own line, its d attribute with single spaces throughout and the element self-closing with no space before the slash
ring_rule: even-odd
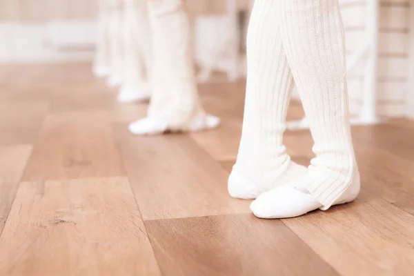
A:
<svg viewBox="0 0 414 276">
<path fill-rule="evenodd" d="M 181 0 L 148 1 L 154 53 L 153 91 L 148 117 L 130 124 L 136 135 L 215 128 L 197 92 L 190 52 L 190 28 Z"/>
</svg>

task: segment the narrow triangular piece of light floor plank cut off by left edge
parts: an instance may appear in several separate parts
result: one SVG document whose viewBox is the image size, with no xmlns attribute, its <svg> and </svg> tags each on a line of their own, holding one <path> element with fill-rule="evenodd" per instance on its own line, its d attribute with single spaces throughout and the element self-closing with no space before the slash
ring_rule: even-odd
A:
<svg viewBox="0 0 414 276">
<path fill-rule="evenodd" d="M 30 145 L 0 148 L 0 235 L 31 151 Z"/>
</svg>

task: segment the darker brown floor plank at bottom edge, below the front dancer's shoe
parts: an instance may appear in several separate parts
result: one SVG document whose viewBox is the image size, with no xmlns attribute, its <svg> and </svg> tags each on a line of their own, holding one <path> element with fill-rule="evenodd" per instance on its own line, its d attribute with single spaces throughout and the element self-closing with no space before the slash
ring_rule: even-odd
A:
<svg viewBox="0 0 414 276">
<path fill-rule="evenodd" d="M 338 275 L 281 221 L 221 215 L 145 221 L 168 275 Z"/>
</svg>

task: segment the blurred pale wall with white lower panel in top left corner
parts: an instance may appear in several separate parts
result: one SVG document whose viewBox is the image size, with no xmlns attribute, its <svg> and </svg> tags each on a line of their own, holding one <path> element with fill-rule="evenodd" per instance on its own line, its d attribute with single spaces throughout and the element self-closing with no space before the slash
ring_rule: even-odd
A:
<svg viewBox="0 0 414 276">
<path fill-rule="evenodd" d="M 0 63 L 90 60 L 96 13 L 97 0 L 0 0 Z"/>
</svg>

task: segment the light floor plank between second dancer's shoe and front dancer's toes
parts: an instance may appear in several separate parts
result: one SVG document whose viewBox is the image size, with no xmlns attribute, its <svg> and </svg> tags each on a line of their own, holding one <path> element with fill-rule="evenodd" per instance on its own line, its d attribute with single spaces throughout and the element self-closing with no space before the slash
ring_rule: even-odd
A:
<svg viewBox="0 0 414 276">
<path fill-rule="evenodd" d="M 228 172 L 188 135 L 115 133 L 144 220 L 250 213 L 248 201 L 229 197 Z"/>
</svg>

